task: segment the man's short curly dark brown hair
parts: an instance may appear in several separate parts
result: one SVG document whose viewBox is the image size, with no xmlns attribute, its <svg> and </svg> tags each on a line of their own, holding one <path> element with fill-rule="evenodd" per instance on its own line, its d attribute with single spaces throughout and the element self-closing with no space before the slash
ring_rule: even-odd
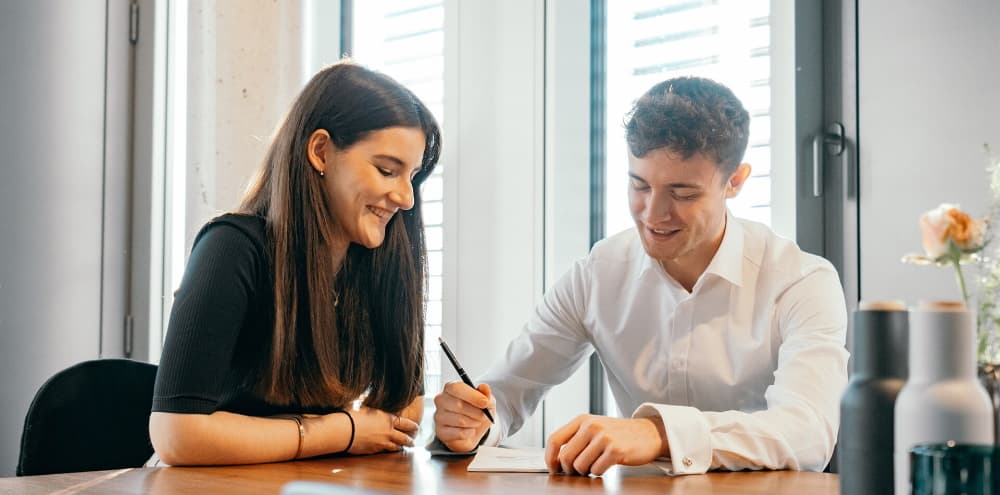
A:
<svg viewBox="0 0 1000 495">
<path fill-rule="evenodd" d="M 702 154 L 729 177 L 743 160 L 750 115 L 729 88 L 711 79 L 677 77 L 650 88 L 626 117 L 633 156 L 659 148 L 685 160 Z"/>
</svg>

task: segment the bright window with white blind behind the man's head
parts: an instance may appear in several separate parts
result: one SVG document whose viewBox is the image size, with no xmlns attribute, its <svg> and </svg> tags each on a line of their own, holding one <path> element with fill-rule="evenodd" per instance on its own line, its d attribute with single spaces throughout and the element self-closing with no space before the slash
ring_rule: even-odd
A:
<svg viewBox="0 0 1000 495">
<path fill-rule="evenodd" d="M 744 161 L 753 172 L 729 208 L 736 216 L 771 224 L 769 9 L 769 0 L 607 2 L 607 235 L 634 225 L 625 114 L 654 84 L 684 75 L 725 84 L 750 113 Z"/>
</svg>

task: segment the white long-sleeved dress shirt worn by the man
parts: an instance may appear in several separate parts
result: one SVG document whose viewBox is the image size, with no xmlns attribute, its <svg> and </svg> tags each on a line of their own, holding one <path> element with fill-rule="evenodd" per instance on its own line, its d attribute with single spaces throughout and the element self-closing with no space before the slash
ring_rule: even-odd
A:
<svg viewBox="0 0 1000 495">
<path fill-rule="evenodd" d="M 822 471 L 847 384 L 837 272 L 762 224 L 727 218 L 690 293 L 634 228 L 577 261 L 480 378 L 499 415 L 485 443 L 516 432 L 596 349 L 619 409 L 663 419 L 668 473 Z"/>
</svg>

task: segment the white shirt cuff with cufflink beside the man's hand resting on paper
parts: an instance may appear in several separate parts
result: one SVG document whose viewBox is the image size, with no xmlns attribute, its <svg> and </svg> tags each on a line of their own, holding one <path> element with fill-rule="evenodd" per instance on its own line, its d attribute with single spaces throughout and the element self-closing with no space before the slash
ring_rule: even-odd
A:
<svg viewBox="0 0 1000 495">
<path fill-rule="evenodd" d="M 667 432 L 668 458 L 654 464 L 667 474 L 703 474 L 712 467 L 712 441 L 701 411 L 688 406 L 644 403 L 633 418 L 660 416 Z"/>
</svg>

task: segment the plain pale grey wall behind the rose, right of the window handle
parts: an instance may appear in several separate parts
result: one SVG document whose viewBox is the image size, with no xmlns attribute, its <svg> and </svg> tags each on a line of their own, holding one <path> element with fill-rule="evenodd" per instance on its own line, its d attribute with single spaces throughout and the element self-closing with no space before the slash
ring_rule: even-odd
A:
<svg viewBox="0 0 1000 495">
<path fill-rule="evenodd" d="M 960 299 L 953 270 L 900 257 L 922 251 L 917 218 L 939 203 L 987 213 L 1000 3 L 868 0 L 858 18 L 861 298 Z"/>
</svg>

